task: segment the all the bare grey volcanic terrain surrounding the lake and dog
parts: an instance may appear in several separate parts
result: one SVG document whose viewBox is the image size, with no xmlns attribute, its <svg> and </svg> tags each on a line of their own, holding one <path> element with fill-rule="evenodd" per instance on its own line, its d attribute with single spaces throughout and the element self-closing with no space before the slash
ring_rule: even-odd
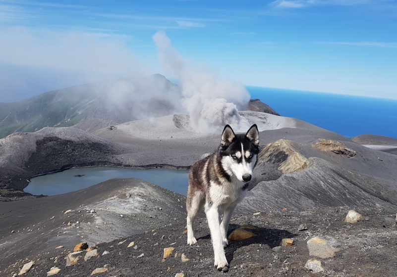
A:
<svg viewBox="0 0 397 277">
<path fill-rule="evenodd" d="M 65 277 L 96 269 L 107 277 L 396 276 L 397 140 L 386 149 L 384 139 L 366 136 L 357 140 L 363 146 L 296 119 L 241 114 L 258 124 L 262 150 L 230 231 L 248 225 L 255 236 L 226 248 L 227 273 L 213 267 L 204 218 L 195 225 L 197 245 L 186 244 L 182 195 L 136 179 L 47 197 L 22 191 L 32 176 L 70 167 L 189 168 L 219 145 L 219 135 L 194 133 L 176 115 L 94 134 L 45 128 L 0 139 L 0 197 L 16 200 L 0 201 L 0 276 L 17 276 L 30 262 L 25 276 L 47 276 L 53 267 Z M 344 222 L 350 209 L 362 215 L 357 223 Z M 292 244 L 279 247 L 285 238 Z M 317 254 L 308 248 L 312 238 Z M 90 251 L 70 256 L 80 242 Z M 86 253 L 93 257 L 84 261 Z"/>
</svg>

